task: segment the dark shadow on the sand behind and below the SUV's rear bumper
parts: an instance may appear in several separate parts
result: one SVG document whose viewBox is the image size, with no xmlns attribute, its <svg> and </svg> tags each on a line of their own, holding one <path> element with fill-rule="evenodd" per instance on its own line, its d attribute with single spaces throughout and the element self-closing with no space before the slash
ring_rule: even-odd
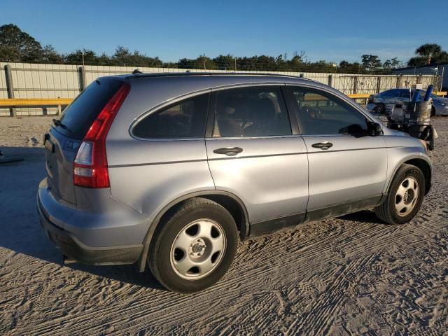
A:
<svg viewBox="0 0 448 336">
<path fill-rule="evenodd" d="M 1 147 L 5 158 L 23 161 L 0 163 L 0 250 L 30 255 L 62 265 L 62 254 L 45 236 L 36 211 L 38 183 L 45 177 L 44 149 L 38 147 Z M 148 267 L 140 273 L 134 265 L 89 266 L 69 264 L 78 269 L 137 286 L 162 289 Z"/>
</svg>

